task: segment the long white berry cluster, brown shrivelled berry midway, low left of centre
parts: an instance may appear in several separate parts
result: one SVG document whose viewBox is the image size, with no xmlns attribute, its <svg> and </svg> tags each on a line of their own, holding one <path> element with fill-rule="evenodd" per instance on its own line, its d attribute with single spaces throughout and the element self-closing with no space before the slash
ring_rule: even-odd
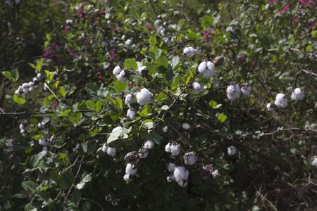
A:
<svg viewBox="0 0 317 211">
<path fill-rule="evenodd" d="M 125 175 L 123 176 L 125 181 L 133 179 L 133 175 L 137 173 L 137 162 L 139 161 L 139 158 L 147 158 L 147 155 L 149 155 L 148 150 L 151 148 L 154 148 L 154 143 L 153 141 L 147 140 L 143 147 L 139 149 L 138 153 L 133 151 L 125 155 L 125 161 L 127 162 Z"/>
</svg>

